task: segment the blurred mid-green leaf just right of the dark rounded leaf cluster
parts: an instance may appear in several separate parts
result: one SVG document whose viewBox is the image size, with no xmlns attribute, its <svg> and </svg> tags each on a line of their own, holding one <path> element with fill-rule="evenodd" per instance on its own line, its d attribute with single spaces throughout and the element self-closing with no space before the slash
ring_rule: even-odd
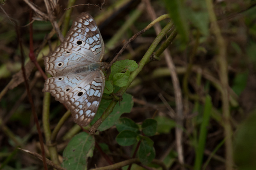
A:
<svg viewBox="0 0 256 170">
<path fill-rule="evenodd" d="M 158 133 L 169 133 L 176 126 L 176 122 L 168 117 L 156 116 L 155 120 L 157 121 Z"/>
</svg>

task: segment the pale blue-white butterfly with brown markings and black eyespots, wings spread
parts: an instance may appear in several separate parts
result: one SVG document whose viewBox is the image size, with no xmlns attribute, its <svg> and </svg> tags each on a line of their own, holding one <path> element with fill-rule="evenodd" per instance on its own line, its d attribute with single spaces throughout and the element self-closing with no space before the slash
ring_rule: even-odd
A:
<svg viewBox="0 0 256 170">
<path fill-rule="evenodd" d="M 46 72 L 52 75 L 45 81 L 43 92 L 64 103 L 78 125 L 88 125 L 101 102 L 103 55 L 101 33 L 93 17 L 83 12 L 73 21 L 64 41 L 43 58 Z"/>
</svg>

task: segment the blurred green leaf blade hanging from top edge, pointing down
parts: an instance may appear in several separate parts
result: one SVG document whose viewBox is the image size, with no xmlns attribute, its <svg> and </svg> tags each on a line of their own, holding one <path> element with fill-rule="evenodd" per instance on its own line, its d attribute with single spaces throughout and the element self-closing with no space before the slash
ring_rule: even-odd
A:
<svg viewBox="0 0 256 170">
<path fill-rule="evenodd" d="M 181 0 L 164 1 L 167 11 L 169 11 L 169 14 L 178 30 L 178 33 L 181 35 L 182 40 L 184 42 L 187 42 L 189 37 L 189 31 L 184 4 L 182 4 Z"/>
</svg>

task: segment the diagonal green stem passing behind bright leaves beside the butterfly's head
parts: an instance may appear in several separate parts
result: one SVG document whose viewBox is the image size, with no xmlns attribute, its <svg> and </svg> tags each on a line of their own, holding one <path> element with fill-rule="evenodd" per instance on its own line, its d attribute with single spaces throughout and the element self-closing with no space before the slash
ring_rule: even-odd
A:
<svg viewBox="0 0 256 170">
<path fill-rule="evenodd" d="M 132 81 L 136 78 L 136 76 L 139 74 L 140 71 L 142 71 L 142 68 L 144 65 L 146 65 L 150 59 L 151 54 L 154 52 L 155 48 L 159 44 L 159 42 L 162 40 L 162 38 L 166 35 L 166 33 L 171 29 L 172 23 L 169 22 L 166 24 L 166 26 L 162 29 L 162 31 L 157 35 L 151 46 L 148 48 L 147 52 L 142 57 L 142 60 L 140 60 L 139 67 L 133 71 L 128 79 L 127 86 L 120 88 L 117 91 L 117 96 L 120 97 L 124 94 L 124 92 L 127 90 L 127 88 L 130 86 Z M 118 101 L 113 98 L 110 102 L 109 106 L 105 110 L 105 112 L 102 114 L 102 116 L 93 124 L 93 126 L 90 128 L 90 133 L 94 133 L 99 125 L 109 116 L 109 114 L 113 111 L 114 106 L 116 106 L 116 103 Z"/>
</svg>

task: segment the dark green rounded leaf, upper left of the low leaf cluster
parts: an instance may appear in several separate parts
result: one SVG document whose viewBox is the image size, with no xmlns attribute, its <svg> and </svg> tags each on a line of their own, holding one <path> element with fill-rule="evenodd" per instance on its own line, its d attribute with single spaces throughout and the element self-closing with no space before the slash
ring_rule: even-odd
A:
<svg viewBox="0 0 256 170">
<path fill-rule="evenodd" d="M 118 132 L 129 130 L 135 133 L 139 133 L 139 126 L 133 120 L 126 117 L 120 118 L 118 120 L 116 128 Z"/>
</svg>

